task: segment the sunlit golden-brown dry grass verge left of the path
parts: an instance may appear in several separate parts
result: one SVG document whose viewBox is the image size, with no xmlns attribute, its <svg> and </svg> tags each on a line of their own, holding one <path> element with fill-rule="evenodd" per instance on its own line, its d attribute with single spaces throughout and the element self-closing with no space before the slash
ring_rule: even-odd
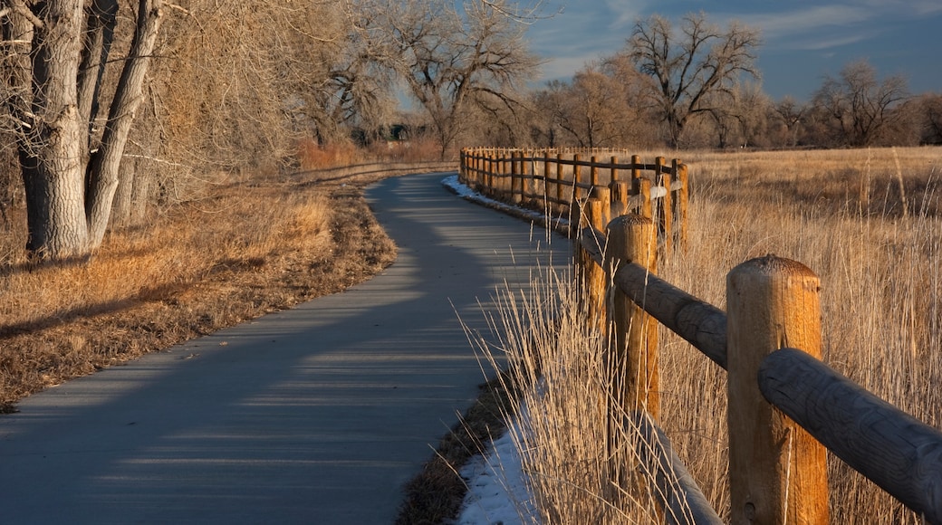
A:
<svg viewBox="0 0 942 525">
<path fill-rule="evenodd" d="M 308 161 L 302 174 L 217 184 L 146 228 L 109 234 L 88 261 L 31 264 L 24 211 L 11 210 L 0 231 L 0 406 L 339 292 L 393 262 L 362 196 L 390 173 L 323 176 Z"/>
</svg>

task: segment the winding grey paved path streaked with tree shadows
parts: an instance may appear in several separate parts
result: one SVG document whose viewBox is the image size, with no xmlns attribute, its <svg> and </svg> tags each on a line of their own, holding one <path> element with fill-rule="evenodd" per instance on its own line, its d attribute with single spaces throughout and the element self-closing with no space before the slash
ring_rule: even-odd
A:
<svg viewBox="0 0 942 525">
<path fill-rule="evenodd" d="M 477 300 L 552 251 L 442 178 L 368 191 L 399 246 L 381 276 L 0 417 L 0 523 L 392 522 L 483 379 L 455 310 L 483 328 Z"/>
</svg>

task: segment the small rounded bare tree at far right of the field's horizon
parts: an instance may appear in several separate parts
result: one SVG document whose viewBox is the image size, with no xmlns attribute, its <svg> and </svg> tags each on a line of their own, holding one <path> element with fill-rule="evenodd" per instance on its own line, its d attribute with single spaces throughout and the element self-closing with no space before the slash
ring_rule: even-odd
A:
<svg viewBox="0 0 942 525">
<path fill-rule="evenodd" d="M 827 76 L 813 98 L 828 116 L 833 133 L 848 146 L 873 144 L 899 115 L 893 108 L 907 97 L 906 81 L 890 76 L 882 82 L 867 60 L 851 62 L 835 78 Z"/>
</svg>

